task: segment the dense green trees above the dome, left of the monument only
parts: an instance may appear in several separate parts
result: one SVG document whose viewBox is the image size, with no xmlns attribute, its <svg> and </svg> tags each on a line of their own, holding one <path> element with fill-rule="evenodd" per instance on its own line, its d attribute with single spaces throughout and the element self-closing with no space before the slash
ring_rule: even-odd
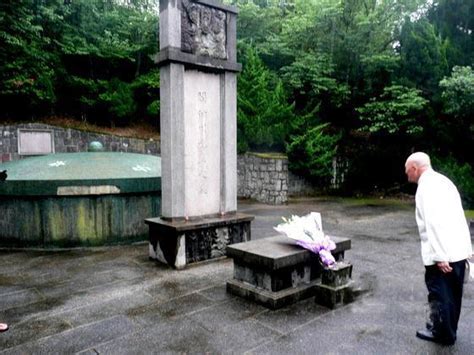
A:
<svg viewBox="0 0 474 355">
<path fill-rule="evenodd" d="M 0 4 L 3 118 L 74 116 L 157 123 L 157 1 L 5 0 Z"/>
</svg>

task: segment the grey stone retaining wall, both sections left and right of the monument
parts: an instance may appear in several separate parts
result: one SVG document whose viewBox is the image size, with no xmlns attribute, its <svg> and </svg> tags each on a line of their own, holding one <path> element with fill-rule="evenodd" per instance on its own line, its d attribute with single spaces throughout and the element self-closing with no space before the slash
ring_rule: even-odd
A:
<svg viewBox="0 0 474 355">
<path fill-rule="evenodd" d="M 160 142 L 64 129 L 27 123 L 0 125 L 0 162 L 24 157 L 18 153 L 18 129 L 50 130 L 54 134 L 54 151 L 84 152 L 92 141 L 103 144 L 105 151 L 160 155 Z M 237 196 L 268 204 L 284 204 L 288 196 L 311 195 L 314 189 L 303 178 L 288 171 L 285 155 L 247 153 L 237 158 Z"/>
</svg>

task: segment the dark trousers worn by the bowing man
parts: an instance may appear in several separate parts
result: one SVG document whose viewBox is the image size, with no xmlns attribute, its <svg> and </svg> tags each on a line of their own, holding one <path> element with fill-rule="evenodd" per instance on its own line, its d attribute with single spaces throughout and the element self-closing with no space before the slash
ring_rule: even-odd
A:
<svg viewBox="0 0 474 355">
<path fill-rule="evenodd" d="M 453 271 L 444 274 L 436 265 L 425 266 L 430 320 L 433 335 L 447 341 L 456 340 L 466 271 L 466 261 L 450 263 Z"/>
</svg>

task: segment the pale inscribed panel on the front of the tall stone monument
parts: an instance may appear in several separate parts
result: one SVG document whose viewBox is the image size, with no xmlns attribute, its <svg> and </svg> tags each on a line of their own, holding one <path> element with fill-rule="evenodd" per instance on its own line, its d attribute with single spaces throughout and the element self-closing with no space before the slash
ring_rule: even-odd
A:
<svg viewBox="0 0 474 355">
<path fill-rule="evenodd" d="M 220 75 L 186 70 L 184 76 L 185 205 L 187 216 L 220 209 Z"/>
</svg>

